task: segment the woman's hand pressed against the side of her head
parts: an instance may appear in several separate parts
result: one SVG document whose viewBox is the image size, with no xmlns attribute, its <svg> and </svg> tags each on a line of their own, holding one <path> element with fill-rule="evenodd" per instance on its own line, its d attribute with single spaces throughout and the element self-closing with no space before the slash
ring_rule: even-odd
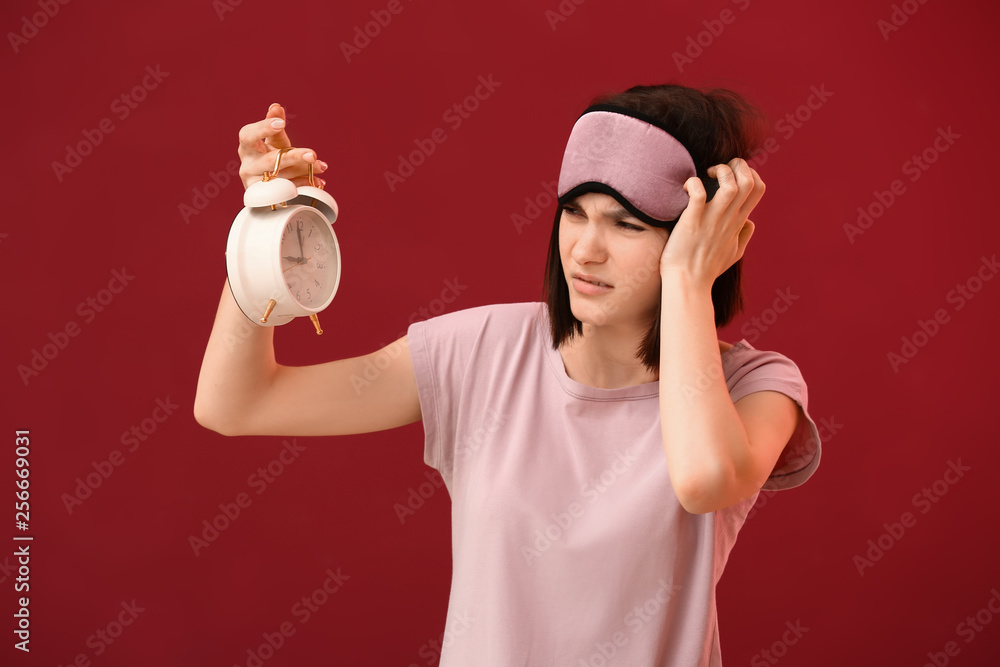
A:
<svg viewBox="0 0 1000 667">
<path fill-rule="evenodd" d="M 719 190 L 707 202 L 705 186 L 689 178 L 684 189 L 690 202 L 660 256 L 660 276 L 680 272 L 711 289 L 715 279 L 735 264 L 753 235 L 750 212 L 764 196 L 764 182 L 742 158 L 708 168 Z"/>
</svg>

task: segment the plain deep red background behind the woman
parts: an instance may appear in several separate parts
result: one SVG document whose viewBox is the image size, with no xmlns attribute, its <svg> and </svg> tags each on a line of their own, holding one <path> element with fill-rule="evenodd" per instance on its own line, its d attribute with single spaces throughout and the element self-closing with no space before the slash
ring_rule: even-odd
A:
<svg viewBox="0 0 1000 667">
<path fill-rule="evenodd" d="M 264 633 L 291 622 L 295 634 L 264 664 L 433 664 L 449 499 L 437 490 L 405 524 L 394 510 L 429 471 L 420 425 L 299 438 L 306 449 L 258 495 L 248 478 L 284 439 L 226 438 L 192 417 L 242 205 L 235 178 L 219 192 L 206 186 L 235 158 L 239 128 L 284 104 L 296 145 L 332 165 L 344 273 L 326 335 L 307 322 L 282 327 L 278 358 L 364 354 L 402 334 L 447 280 L 467 286 L 449 310 L 537 300 L 552 208 L 520 233 L 512 215 L 556 178 L 572 122 L 595 94 L 677 80 L 740 91 L 775 123 L 777 150 L 759 166 L 767 195 L 745 259 L 746 313 L 720 337 L 795 360 L 811 413 L 827 425 L 817 474 L 763 497 L 740 535 L 718 590 L 726 664 L 772 664 L 765 649 L 786 665 L 922 665 L 928 653 L 939 664 L 996 664 L 1000 617 L 980 613 L 990 620 L 971 636 L 959 624 L 1000 588 L 1000 280 L 973 280 L 981 289 L 961 309 L 948 295 L 1000 246 L 1000 12 L 985 1 L 903 4 L 591 0 L 564 2 L 568 16 L 553 24 L 556 0 L 402 0 L 348 62 L 340 44 L 386 2 L 243 0 L 220 14 L 210 0 L 76 1 L 39 14 L 37 31 L 24 23 L 42 11 L 37 1 L 4 3 L 0 538 L 13 545 L 21 534 L 13 432 L 30 429 L 35 540 L 32 650 L 13 650 L 4 613 L 0 662 L 246 665 Z M 883 34 L 894 11 L 901 25 Z M 685 49 L 695 57 L 678 66 Z M 147 66 L 166 74 L 122 118 L 115 100 Z M 480 75 L 500 85 L 453 129 L 442 114 Z M 813 87 L 830 95 L 810 109 Z M 805 120 L 782 122 L 797 110 Z M 105 118 L 113 131 L 57 174 L 67 146 L 97 136 Z M 447 141 L 390 191 L 385 172 L 438 127 Z M 939 128 L 958 135 L 943 152 Z M 925 150 L 934 163 L 907 171 Z M 849 238 L 858 208 L 877 213 L 897 180 L 901 194 Z M 196 204 L 203 210 L 185 220 Z M 134 278 L 87 321 L 79 304 L 122 268 Z M 797 299 L 773 317 L 779 290 Z M 889 353 L 939 309 L 946 321 L 894 369 Z M 767 318 L 766 331 L 753 317 Z M 18 367 L 67 325 L 78 335 L 25 381 Z M 128 451 L 122 434 L 162 416 L 157 399 L 178 407 L 147 421 L 155 432 Z M 124 461 L 69 512 L 64 494 L 115 450 Z M 961 478 L 939 482 L 933 504 L 914 503 L 959 460 L 969 468 Z M 196 556 L 189 536 L 241 492 L 252 504 Z M 904 512 L 915 524 L 883 535 Z M 855 556 L 880 536 L 891 546 L 859 573 Z M 0 551 L 0 605 L 11 611 L 12 551 Z M 349 579 L 301 623 L 293 605 L 328 568 Z M 96 655 L 88 638 L 133 600 L 143 611 Z M 783 644 L 786 623 L 808 630 Z"/>
</svg>

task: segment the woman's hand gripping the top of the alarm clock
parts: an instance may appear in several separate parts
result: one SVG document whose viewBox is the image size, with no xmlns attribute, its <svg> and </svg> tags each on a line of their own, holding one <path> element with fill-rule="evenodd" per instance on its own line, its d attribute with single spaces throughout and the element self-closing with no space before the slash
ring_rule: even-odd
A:
<svg viewBox="0 0 1000 667">
<path fill-rule="evenodd" d="M 288 148 L 291 142 L 286 132 L 285 110 L 280 104 L 272 104 L 264 120 L 244 125 L 240 130 L 240 178 L 243 187 L 263 180 L 264 172 L 274 169 L 279 149 Z M 316 157 L 310 148 L 296 148 L 281 156 L 281 168 L 277 176 L 287 178 L 296 186 L 309 185 L 309 163 L 313 164 L 314 177 L 326 171 L 327 165 Z M 326 184 L 322 178 L 315 178 L 316 185 Z"/>
</svg>

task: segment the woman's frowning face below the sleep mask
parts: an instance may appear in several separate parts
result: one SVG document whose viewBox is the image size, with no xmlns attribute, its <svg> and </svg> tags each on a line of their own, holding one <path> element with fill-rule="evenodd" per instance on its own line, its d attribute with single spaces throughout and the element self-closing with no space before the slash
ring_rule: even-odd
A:
<svg viewBox="0 0 1000 667">
<path fill-rule="evenodd" d="M 647 327 L 660 307 L 667 236 L 609 195 L 588 192 L 568 202 L 559 221 L 559 254 L 573 316 L 585 324 Z"/>
</svg>

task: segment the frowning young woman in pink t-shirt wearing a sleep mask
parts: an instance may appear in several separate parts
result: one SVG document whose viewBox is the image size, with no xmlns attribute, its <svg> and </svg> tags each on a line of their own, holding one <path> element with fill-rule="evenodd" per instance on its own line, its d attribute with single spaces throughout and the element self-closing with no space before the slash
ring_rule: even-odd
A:
<svg viewBox="0 0 1000 667">
<path fill-rule="evenodd" d="M 227 286 L 196 418 L 228 435 L 423 421 L 452 498 L 444 667 L 720 665 L 715 587 L 737 532 L 761 488 L 802 484 L 820 458 L 795 364 L 716 338 L 742 307 L 758 121 L 728 91 L 596 100 L 567 143 L 543 302 L 286 367 L 273 328 L 226 344 L 245 328 Z M 289 145 L 272 105 L 240 132 L 244 184 Z M 303 184 L 308 163 L 326 170 L 296 148 L 280 175 Z M 369 363 L 384 370 L 359 388 Z"/>
</svg>

